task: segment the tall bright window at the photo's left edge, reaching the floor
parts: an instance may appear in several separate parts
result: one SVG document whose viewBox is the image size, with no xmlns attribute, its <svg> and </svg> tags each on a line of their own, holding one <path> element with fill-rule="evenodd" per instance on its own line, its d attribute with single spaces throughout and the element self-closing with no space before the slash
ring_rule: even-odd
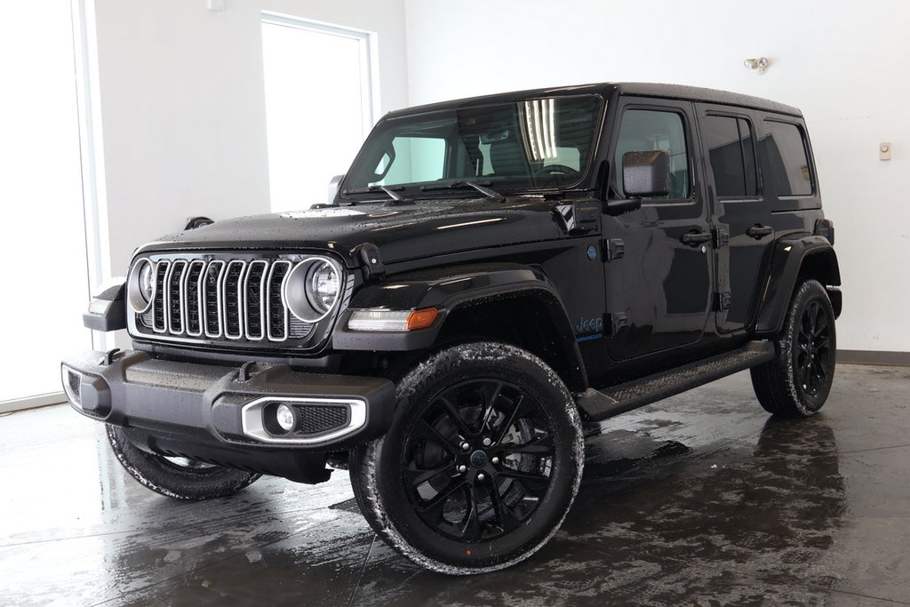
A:
<svg viewBox="0 0 910 607">
<path fill-rule="evenodd" d="M 62 401 L 60 359 L 92 346 L 73 31 L 69 0 L 0 20 L 0 410 Z"/>
</svg>

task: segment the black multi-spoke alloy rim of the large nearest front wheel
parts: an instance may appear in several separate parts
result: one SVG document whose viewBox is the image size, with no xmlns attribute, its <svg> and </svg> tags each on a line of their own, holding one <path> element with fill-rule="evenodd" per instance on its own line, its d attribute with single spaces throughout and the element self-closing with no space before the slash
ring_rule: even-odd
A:
<svg viewBox="0 0 910 607">
<path fill-rule="evenodd" d="M 515 530 L 550 487 L 555 448 L 540 406 L 518 386 L 468 379 L 426 403 L 400 467 L 420 519 L 467 542 Z"/>
</svg>

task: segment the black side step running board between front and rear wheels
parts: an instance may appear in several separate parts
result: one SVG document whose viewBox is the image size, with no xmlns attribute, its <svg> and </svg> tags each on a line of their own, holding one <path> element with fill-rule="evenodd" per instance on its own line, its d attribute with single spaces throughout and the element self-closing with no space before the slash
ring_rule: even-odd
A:
<svg viewBox="0 0 910 607">
<path fill-rule="evenodd" d="M 584 416 L 593 421 L 606 420 L 652 402 L 697 388 L 714 379 L 733 375 L 774 358 L 770 341 L 751 341 L 743 348 L 710 359 L 698 360 L 675 369 L 634 379 L 603 390 L 587 389 L 578 397 Z"/>
</svg>

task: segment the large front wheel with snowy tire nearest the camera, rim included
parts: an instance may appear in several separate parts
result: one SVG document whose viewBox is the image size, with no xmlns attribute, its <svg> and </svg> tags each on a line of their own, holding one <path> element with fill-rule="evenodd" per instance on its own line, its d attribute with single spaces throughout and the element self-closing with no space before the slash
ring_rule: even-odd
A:
<svg viewBox="0 0 910 607">
<path fill-rule="evenodd" d="M 427 569 L 490 572 L 537 551 L 581 482 L 581 420 L 541 359 L 495 342 L 440 350 L 398 383 L 389 432 L 351 454 L 377 533 Z"/>
</svg>

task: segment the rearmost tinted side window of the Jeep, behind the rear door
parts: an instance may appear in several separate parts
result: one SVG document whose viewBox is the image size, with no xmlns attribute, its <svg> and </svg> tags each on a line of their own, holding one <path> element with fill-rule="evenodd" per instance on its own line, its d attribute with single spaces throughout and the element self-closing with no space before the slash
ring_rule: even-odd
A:
<svg viewBox="0 0 910 607">
<path fill-rule="evenodd" d="M 769 176 L 777 196 L 809 196 L 812 175 L 805 153 L 803 131 L 785 122 L 765 121 L 768 134 L 762 137 L 762 148 L 768 158 Z"/>
</svg>

